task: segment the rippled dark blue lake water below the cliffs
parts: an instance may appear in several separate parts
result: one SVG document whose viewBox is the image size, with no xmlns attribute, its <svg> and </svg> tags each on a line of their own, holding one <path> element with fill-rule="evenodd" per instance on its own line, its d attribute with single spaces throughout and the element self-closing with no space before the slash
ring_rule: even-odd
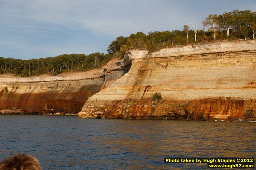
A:
<svg viewBox="0 0 256 170">
<path fill-rule="evenodd" d="M 256 122 L 0 115 L 0 160 L 35 156 L 43 170 L 201 170 L 164 157 L 255 157 Z"/>
</svg>

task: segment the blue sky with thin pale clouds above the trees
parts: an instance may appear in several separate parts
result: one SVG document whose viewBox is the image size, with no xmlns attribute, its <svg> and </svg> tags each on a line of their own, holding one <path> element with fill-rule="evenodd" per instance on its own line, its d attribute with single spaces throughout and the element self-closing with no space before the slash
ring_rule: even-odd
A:
<svg viewBox="0 0 256 170">
<path fill-rule="evenodd" d="M 106 53 L 118 36 L 182 30 L 209 14 L 256 11 L 256 0 L 0 0 L 0 56 Z"/>
</svg>

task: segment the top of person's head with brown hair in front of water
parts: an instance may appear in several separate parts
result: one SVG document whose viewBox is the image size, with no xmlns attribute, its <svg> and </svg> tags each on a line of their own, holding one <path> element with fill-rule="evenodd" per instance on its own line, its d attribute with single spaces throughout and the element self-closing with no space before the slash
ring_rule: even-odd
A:
<svg viewBox="0 0 256 170">
<path fill-rule="evenodd" d="M 38 160 L 28 154 L 15 154 L 0 162 L 0 170 L 42 170 Z"/>
</svg>

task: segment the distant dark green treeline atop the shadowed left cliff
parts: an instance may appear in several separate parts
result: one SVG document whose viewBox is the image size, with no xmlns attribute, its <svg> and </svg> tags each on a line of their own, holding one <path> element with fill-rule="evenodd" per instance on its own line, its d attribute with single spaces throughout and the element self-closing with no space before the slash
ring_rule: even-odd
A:
<svg viewBox="0 0 256 170">
<path fill-rule="evenodd" d="M 112 58 L 111 54 L 100 52 L 85 54 L 63 54 L 30 60 L 0 57 L 0 74 L 12 73 L 18 76 L 56 75 L 67 70 L 88 70 L 102 67 Z"/>
</svg>

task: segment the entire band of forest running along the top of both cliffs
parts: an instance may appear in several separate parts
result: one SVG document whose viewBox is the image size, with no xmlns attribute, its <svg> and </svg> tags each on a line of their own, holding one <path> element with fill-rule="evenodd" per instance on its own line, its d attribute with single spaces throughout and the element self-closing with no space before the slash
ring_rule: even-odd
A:
<svg viewBox="0 0 256 170">
<path fill-rule="evenodd" d="M 128 50 L 146 49 L 149 52 L 161 48 L 215 40 L 254 39 L 256 34 L 256 12 L 233 10 L 223 14 L 209 14 L 201 21 L 183 26 L 183 30 L 163 32 L 137 32 L 128 37 L 118 36 L 108 46 L 108 54 L 100 52 L 85 54 L 63 54 L 56 57 L 20 60 L 0 57 L 0 74 L 12 73 L 17 76 L 55 75 L 69 70 L 88 70 L 104 66 L 114 56 L 123 56 Z"/>
</svg>

